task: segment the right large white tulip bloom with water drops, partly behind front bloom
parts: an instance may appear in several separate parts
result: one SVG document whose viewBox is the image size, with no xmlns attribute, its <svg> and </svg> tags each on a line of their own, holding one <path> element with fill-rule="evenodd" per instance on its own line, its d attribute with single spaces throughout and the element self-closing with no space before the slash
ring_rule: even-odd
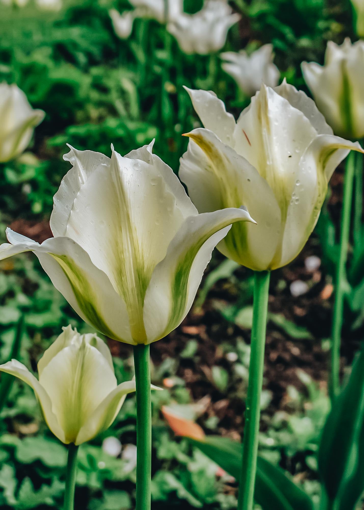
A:
<svg viewBox="0 0 364 510">
<path fill-rule="evenodd" d="M 301 251 L 327 184 L 352 143 L 332 134 L 312 99 L 262 85 L 236 122 L 213 92 L 187 89 L 204 129 L 193 130 L 180 179 L 200 213 L 244 203 L 257 226 L 232 225 L 218 249 L 251 269 L 276 269 Z"/>
</svg>

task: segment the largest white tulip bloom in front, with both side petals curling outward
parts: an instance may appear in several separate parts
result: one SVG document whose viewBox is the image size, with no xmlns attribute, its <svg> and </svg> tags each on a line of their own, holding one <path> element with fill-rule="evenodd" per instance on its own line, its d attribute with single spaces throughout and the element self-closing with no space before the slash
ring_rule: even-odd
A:
<svg viewBox="0 0 364 510">
<path fill-rule="evenodd" d="M 180 324 L 213 248 L 231 223 L 253 221 L 245 209 L 198 214 L 152 143 L 111 159 L 71 148 L 50 217 L 55 237 L 38 244 L 8 228 L 11 244 L 0 246 L 0 260 L 34 251 L 86 322 L 134 345 Z"/>
</svg>

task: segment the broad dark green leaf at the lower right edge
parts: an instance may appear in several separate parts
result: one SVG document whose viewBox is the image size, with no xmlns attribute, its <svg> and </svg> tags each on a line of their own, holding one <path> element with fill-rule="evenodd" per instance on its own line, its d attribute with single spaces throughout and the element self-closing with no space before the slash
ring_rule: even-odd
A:
<svg viewBox="0 0 364 510">
<path fill-rule="evenodd" d="M 333 403 L 319 448 L 318 466 L 329 501 L 348 498 L 349 488 L 359 497 L 364 489 L 360 476 L 364 465 L 364 348 L 353 364 L 351 375 Z M 353 488 L 350 489 L 354 491 Z M 344 508 L 344 507 L 343 507 Z M 345 507 L 350 510 L 350 506 Z"/>
</svg>

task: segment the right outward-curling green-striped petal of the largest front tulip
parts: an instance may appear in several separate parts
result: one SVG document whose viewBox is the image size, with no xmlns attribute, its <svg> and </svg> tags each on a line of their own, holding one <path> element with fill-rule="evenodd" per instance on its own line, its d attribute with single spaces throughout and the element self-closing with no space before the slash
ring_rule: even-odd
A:
<svg viewBox="0 0 364 510">
<path fill-rule="evenodd" d="M 144 301 L 148 343 L 165 337 L 186 317 L 211 253 L 236 221 L 253 221 L 245 209 L 187 218 L 154 269 Z"/>
</svg>

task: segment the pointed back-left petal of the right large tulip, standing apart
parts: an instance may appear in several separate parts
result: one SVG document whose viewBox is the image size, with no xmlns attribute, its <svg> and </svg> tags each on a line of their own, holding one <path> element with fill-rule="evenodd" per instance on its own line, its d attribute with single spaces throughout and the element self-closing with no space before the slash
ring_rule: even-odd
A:
<svg viewBox="0 0 364 510">
<path fill-rule="evenodd" d="M 215 133 L 223 143 L 231 143 L 236 122 L 233 115 L 226 111 L 223 101 L 211 91 L 187 87 L 184 89 L 191 97 L 192 105 L 203 126 Z"/>
</svg>

